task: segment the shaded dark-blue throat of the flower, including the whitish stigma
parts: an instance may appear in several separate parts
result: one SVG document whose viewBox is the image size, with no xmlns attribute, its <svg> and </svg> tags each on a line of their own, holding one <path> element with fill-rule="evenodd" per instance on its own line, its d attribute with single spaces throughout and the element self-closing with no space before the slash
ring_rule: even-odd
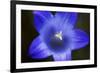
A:
<svg viewBox="0 0 100 73">
<path fill-rule="evenodd" d="M 65 32 L 57 31 L 54 28 L 48 28 L 44 30 L 43 38 L 45 44 L 53 52 L 65 51 L 69 46 L 69 38 L 65 35 Z"/>
</svg>

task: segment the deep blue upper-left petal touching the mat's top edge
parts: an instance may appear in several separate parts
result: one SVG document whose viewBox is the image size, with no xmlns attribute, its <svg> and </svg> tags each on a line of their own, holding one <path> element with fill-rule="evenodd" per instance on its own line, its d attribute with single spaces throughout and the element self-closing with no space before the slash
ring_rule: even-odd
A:
<svg viewBox="0 0 100 73">
<path fill-rule="evenodd" d="M 33 11 L 34 16 L 34 27 L 39 32 L 43 26 L 45 26 L 45 22 L 49 21 L 53 17 L 53 15 L 49 11 Z"/>
</svg>

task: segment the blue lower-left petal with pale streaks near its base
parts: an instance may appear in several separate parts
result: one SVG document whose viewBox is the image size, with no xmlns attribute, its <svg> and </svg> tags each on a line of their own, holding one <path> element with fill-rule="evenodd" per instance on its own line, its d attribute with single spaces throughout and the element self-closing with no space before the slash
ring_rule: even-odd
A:
<svg viewBox="0 0 100 73">
<path fill-rule="evenodd" d="M 47 46 L 41 41 L 40 37 L 37 37 L 31 43 L 29 47 L 29 56 L 33 59 L 41 59 L 50 56 L 51 53 L 48 50 Z"/>
</svg>

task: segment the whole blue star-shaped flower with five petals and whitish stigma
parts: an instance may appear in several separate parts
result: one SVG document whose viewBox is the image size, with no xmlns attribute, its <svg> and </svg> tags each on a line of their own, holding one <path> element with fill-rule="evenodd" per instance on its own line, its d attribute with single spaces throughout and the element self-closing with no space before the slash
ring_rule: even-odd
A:
<svg viewBox="0 0 100 73">
<path fill-rule="evenodd" d="M 39 32 L 29 46 L 29 56 L 44 59 L 53 56 L 55 61 L 71 60 L 71 52 L 85 47 L 89 36 L 75 28 L 77 13 L 33 11 L 34 27 Z"/>
</svg>

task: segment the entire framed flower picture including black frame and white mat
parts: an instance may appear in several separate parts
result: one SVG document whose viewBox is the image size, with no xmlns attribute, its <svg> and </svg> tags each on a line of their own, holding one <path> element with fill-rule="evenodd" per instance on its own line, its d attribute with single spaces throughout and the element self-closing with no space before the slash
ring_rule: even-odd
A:
<svg viewBox="0 0 100 73">
<path fill-rule="evenodd" d="M 96 6 L 11 1 L 11 72 L 96 66 Z"/>
</svg>

